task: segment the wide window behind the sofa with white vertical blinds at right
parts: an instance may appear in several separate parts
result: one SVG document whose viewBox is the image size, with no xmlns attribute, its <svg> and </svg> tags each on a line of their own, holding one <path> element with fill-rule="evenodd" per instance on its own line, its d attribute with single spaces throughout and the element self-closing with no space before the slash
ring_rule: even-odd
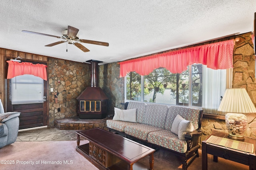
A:
<svg viewBox="0 0 256 170">
<path fill-rule="evenodd" d="M 210 70 L 211 74 L 203 76 L 204 72 L 207 73 L 206 70 Z M 215 84 L 206 83 L 209 82 L 208 79 Z M 202 64 L 193 64 L 188 66 L 188 70 L 181 74 L 172 74 L 166 68 L 158 68 L 146 76 L 129 72 L 125 80 L 126 100 L 200 107 L 203 109 L 204 107 L 212 108 L 212 104 L 215 103 L 213 109 L 217 110 L 220 104 L 220 96 L 224 95 L 226 89 L 226 70 L 212 70 Z M 206 86 L 209 87 L 206 88 Z M 214 91 L 213 88 L 222 90 Z M 203 98 L 209 98 L 209 94 L 215 96 L 215 102 L 203 102 Z M 209 104 L 211 106 L 208 106 Z"/>
</svg>

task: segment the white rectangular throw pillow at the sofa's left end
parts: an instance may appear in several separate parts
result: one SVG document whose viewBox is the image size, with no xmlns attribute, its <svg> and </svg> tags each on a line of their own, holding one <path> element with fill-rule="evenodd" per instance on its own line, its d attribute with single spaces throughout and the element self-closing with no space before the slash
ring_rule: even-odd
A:
<svg viewBox="0 0 256 170">
<path fill-rule="evenodd" d="M 137 109 L 125 109 L 124 110 L 124 109 L 118 109 L 115 107 L 113 120 L 137 122 L 136 121 L 136 111 L 137 111 Z"/>
</svg>

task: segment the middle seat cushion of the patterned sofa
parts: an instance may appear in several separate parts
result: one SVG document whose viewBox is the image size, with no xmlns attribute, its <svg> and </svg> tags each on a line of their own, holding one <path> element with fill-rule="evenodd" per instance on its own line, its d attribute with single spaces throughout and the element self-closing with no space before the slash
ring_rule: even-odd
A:
<svg viewBox="0 0 256 170">
<path fill-rule="evenodd" d="M 146 124 L 127 125 L 124 132 L 142 140 L 147 140 L 148 133 L 162 130 L 159 127 L 154 127 Z"/>
</svg>

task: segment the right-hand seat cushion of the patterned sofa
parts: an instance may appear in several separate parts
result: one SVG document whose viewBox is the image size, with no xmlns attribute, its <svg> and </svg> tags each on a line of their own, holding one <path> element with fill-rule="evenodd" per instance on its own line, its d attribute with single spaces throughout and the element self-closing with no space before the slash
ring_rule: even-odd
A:
<svg viewBox="0 0 256 170">
<path fill-rule="evenodd" d="M 170 130 L 150 132 L 148 134 L 148 142 L 180 153 L 187 151 L 186 141 L 179 139 L 178 135 L 175 135 Z"/>
</svg>

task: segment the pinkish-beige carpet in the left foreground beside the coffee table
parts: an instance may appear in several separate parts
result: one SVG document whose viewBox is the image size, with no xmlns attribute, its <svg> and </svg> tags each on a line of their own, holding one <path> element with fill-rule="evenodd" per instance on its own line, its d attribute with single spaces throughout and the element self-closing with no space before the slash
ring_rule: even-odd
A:
<svg viewBox="0 0 256 170">
<path fill-rule="evenodd" d="M 0 169 L 98 170 L 75 148 L 76 141 L 15 142 L 0 149 Z"/>
</svg>

